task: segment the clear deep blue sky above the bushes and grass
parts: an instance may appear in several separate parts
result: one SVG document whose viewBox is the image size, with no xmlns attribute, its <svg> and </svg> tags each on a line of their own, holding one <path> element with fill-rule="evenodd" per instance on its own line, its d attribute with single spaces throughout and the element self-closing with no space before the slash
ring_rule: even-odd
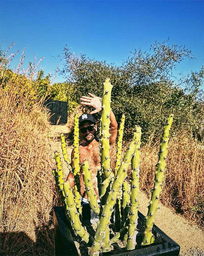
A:
<svg viewBox="0 0 204 256">
<path fill-rule="evenodd" d="M 148 50 L 169 37 L 197 60 L 178 65 L 174 74 L 198 71 L 204 64 L 203 1 L 1 1 L 1 49 L 26 47 L 25 66 L 34 54 L 45 74 L 54 73 L 68 45 L 77 54 L 122 64 L 135 48 Z M 12 62 L 14 68 L 20 58 Z M 61 64 L 62 66 L 62 64 Z M 55 81 L 63 81 L 57 76 Z"/>
</svg>

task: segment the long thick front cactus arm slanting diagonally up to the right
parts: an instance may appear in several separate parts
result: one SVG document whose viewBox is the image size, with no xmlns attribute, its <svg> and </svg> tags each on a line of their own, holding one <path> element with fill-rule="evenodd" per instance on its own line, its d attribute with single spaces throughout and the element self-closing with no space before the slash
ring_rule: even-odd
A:
<svg viewBox="0 0 204 256">
<path fill-rule="evenodd" d="M 133 140 L 129 144 L 129 147 L 124 156 L 124 160 L 118 170 L 118 174 L 113 183 L 112 189 L 107 197 L 106 204 L 103 206 L 103 211 L 102 211 L 100 220 L 98 222 L 98 226 L 97 226 L 96 233 L 94 236 L 94 242 L 93 242 L 92 247 L 90 248 L 90 256 L 99 255 L 102 241 L 106 234 L 106 229 L 107 229 L 108 225 L 110 224 L 110 218 L 111 218 L 111 214 L 113 212 L 113 206 L 116 202 L 116 198 L 117 198 L 119 190 L 123 184 L 123 181 L 124 181 L 125 177 L 127 176 L 126 170 L 127 170 L 128 166 L 130 165 L 130 161 L 131 161 L 134 151 L 136 149 L 136 144 L 139 142 L 138 135 L 139 135 L 139 133 L 137 132 L 137 127 L 136 127 L 136 132 L 134 132 Z"/>
</svg>

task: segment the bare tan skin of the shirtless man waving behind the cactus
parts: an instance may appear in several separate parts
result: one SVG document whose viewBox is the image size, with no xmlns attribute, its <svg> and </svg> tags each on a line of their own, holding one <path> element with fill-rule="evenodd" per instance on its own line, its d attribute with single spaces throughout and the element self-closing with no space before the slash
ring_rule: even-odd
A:
<svg viewBox="0 0 204 256">
<path fill-rule="evenodd" d="M 92 106 L 95 108 L 95 110 L 90 112 L 90 114 L 100 112 L 101 106 L 102 106 L 101 98 L 95 96 L 94 94 L 92 94 L 90 92 L 88 94 L 91 97 L 82 96 L 80 98 L 81 104 Z M 117 137 L 117 127 L 118 127 L 115 115 L 112 110 L 110 112 L 110 121 L 111 122 L 110 122 L 110 131 L 109 132 L 111 134 L 111 137 L 109 139 L 109 143 L 111 146 L 111 150 L 110 150 L 110 156 L 111 156 L 112 147 L 113 147 L 113 145 L 116 141 L 116 137 Z M 89 131 L 88 129 L 86 129 L 85 133 L 81 133 L 81 131 L 80 131 L 80 135 L 84 139 L 84 141 L 79 145 L 79 163 L 81 165 L 84 160 L 87 160 L 89 162 L 89 167 L 92 172 L 91 177 L 92 177 L 94 191 L 97 195 L 97 199 L 99 199 L 96 176 L 97 176 L 98 170 L 101 169 L 101 164 L 100 164 L 99 142 L 96 140 L 97 125 L 94 125 L 90 121 L 84 121 L 82 123 L 82 125 L 80 126 L 80 128 L 88 127 L 90 125 L 94 127 L 93 131 Z M 74 150 L 72 150 L 72 154 L 71 154 L 71 159 L 73 159 L 73 158 L 74 158 Z M 73 161 L 72 161 L 72 166 L 73 166 Z M 81 169 L 80 169 L 80 173 L 82 173 Z M 69 175 L 67 177 L 67 181 L 68 180 L 70 182 L 71 188 L 73 188 L 74 175 L 71 172 L 69 173 Z M 86 194 L 86 192 L 84 192 L 85 186 L 83 184 L 83 175 L 82 174 L 80 174 L 80 187 L 81 187 L 81 189 L 80 189 L 81 196 L 84 198 L 87 198 L 87 194 Z"/>
</svg>

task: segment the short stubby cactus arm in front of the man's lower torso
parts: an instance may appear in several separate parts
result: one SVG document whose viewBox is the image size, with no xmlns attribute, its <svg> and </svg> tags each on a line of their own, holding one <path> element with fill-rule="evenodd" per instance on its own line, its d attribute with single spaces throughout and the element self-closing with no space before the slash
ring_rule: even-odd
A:
<svg viewBox="0 0 204 256">
<path fill-rule="evenodd" d="M 83 171 L 83 182 L 86 187 L 86 193 L 88 196 L 88 201 L 91 209 L 99 215 L 100 208 L 97 202 L 97 195 L 94 192 L 93 189 L 93 182 L 91 179 L 91 171 L 88 165 L 88 161 L 84 161 L 84 163 L 81 165 L 82 171 Z"/>
</svg>

